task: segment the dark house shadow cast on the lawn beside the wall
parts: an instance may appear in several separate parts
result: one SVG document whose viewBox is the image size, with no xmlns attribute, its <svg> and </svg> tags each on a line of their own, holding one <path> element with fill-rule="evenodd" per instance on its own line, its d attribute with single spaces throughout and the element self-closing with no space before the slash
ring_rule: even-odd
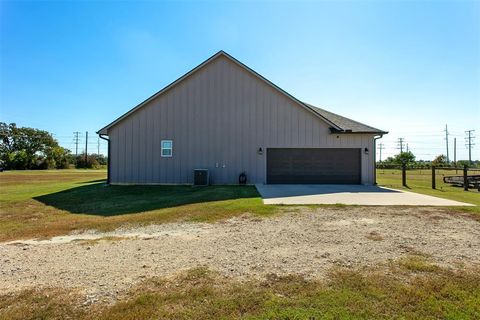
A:
<svg viewBox="0 0 480 320">
<path fill-rule="evenodd" d="M 115 216 L 210 201 L 259 197 L 254 186 L 106 186 L 93 183 L 34 199 L 74 214 Z"/>
</svg>

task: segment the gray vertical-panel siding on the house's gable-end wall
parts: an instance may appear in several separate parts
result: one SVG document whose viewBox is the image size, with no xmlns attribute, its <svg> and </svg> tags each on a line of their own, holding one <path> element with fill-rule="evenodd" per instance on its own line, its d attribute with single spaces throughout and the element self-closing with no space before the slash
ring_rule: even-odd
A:
<svg viewBox="0 0 480 320">
<path fill-rule="evenodd" d="M 237 64 L 219 57 L 108 130 L 112 183 L 266 182 L 267 148 L 368 148 L 362 183 L 373 183 L 371 134 L 332 135 L 329 126 Z M 173 140 L 173 157 L 160 141 Z M 263 155 L 257 154 L 259 147 Z M 215 164 L 219 167 L 216 168 Z M 222 165 L 225 164 L 225 168 Z"/>
</svg>

